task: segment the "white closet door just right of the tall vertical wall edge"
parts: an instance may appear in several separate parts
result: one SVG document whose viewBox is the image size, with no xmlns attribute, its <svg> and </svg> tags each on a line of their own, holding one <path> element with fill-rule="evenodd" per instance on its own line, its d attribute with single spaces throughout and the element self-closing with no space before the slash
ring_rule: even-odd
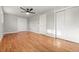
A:
<svg viewBox="0 0 79 59">
<path fill-rule="evenodd" d="M 65 10 L 56 13 L 56 37 L 63 38 Z"/>
</svg>

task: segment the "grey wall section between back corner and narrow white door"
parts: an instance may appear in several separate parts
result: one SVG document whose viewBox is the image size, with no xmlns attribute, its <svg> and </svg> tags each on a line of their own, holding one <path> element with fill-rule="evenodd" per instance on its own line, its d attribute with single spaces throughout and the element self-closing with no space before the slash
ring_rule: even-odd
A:
<svg viewBox="0 0 79 59">
<path fill-rule="evenodd" d="M 29 20 L 29 31 L 32 32 L 39 32 L 39 16 L 34 16 L 32 18 L 30 18 Z"/>
</svg>

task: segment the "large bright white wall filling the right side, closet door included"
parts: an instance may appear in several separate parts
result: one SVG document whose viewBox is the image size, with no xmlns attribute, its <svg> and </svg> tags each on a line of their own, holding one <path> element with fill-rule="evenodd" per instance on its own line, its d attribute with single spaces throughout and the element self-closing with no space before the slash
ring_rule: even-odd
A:
<svg viewBox="0 0 79 59">
<path fill-rule="evenodd" d="M 57 33 L 60 38 L 79 43 L 79 7 L 57 13 Z"/>
</svg>

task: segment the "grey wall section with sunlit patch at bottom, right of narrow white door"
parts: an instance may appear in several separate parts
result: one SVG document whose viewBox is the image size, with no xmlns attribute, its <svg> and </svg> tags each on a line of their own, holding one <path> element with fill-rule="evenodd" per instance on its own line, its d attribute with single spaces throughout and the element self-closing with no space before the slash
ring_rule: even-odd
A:
<svg viewBox="0 0 79 59">
<path fill-rule="evenodd" d="M 50 10 L 46 15 L 46 33 L 50 36 L 55 36 L 55 20 L 53 10 Z"/>
</svg>

